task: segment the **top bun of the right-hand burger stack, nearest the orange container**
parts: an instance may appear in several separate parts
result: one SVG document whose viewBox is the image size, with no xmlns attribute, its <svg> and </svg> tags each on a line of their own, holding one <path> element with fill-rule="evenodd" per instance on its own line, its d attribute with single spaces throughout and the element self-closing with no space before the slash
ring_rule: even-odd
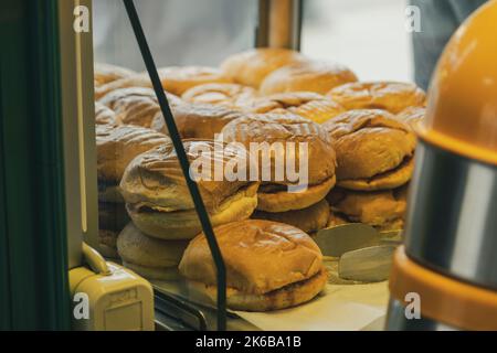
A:
<svg viewBox="0 0 497 353">
<path fill-rule="evenodd" d="M 412 158 L 416 145 L 408 126 L 379 109 L 349 110 L 321 126 L 329 132 L 337 152 L 339 183 L 384 176 L 382 173 L 404 167 L 403 162 Z M 405 180 L 400 178 L 396 182 L 402 184 Z"/>
</svg>

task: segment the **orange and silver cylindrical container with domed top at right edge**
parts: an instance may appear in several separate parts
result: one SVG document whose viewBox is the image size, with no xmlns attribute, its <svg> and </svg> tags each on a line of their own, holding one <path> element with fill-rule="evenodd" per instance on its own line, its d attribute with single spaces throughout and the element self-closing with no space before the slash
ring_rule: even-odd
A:
<svg viewBox="0 0 497 353">
<path fill-rule="evenodd" d="M 432 78 L 389 330 L 497 330 L 496 24 L 490 0 L 454 33 Z"/>
</svg>

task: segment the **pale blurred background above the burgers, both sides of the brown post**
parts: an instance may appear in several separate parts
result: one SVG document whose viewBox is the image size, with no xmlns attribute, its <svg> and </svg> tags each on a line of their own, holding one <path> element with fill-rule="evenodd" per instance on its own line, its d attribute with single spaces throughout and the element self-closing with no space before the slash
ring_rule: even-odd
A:
<svg viewBox="0 0 497 353">
<path fill-rule="evenodd" d="M 136 2 L 157 64 L 218 65 L 254 45 L 257 0 Z M 362 79 L 410 79 L 404 0 L 305 0 L 303 52 L 347 64 Z M 142 69 L 120 0 L 94 1 L 95 60 Z"/>
</svg>

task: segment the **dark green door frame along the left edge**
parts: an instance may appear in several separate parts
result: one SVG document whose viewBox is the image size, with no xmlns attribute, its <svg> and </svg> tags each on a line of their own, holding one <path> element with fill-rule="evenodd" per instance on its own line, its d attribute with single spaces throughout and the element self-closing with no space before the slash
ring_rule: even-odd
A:
<svg viewBox="0 0 497 353">
<path fill-rule="evenodd" d="M 0 2 L 0 329 L 68 330 L 55 0 Z"/>
</svg>

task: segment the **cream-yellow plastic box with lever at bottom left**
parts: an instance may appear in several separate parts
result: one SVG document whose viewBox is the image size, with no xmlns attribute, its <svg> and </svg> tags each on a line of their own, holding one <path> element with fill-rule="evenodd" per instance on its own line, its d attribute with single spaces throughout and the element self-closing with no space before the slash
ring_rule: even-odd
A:
<svg viewBox="0 0 497 353">
<path fill-rule="evenodd" d="M 83 256 L 87 266 L 70 270 L 73 330 L 152 331 L 151 285 L 85 243 Z"/>
</svg>

